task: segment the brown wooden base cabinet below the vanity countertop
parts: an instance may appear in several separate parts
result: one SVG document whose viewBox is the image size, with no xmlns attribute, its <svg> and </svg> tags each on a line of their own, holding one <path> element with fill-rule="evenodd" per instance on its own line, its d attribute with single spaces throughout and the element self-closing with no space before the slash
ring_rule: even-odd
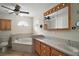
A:
<svg viewBox="0 0 79 59">
<path fill-rule="evenodd" d="M 66 56 L 67 54 L 36 39 L 33 40 L 34 51 L 40 56 Z"/>
</svg>

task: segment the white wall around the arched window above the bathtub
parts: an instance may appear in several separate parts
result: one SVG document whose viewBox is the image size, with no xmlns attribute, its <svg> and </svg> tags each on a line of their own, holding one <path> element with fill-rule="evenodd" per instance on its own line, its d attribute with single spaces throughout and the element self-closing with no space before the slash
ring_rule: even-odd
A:
<svg viewBox="0 0 79 59">
<path fill-rule="evenodd" d="M 25 21 L 27 22 L 28 26 L 17 26 L 19 21 Z M 33 18 L 30 17 L 19 17 L 15 20 L 12 20 L 12 34 L 20 34 L 20 33 L 32 33 L 33 31 Z"/>
</svg>

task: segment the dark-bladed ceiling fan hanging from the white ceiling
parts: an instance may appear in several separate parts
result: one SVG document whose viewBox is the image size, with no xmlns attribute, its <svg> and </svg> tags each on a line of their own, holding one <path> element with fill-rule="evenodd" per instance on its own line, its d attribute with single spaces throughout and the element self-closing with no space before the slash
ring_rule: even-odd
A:
<svg viewBox="0 0 79 59">
<path fill-rule="evenodd" d="M 29 14 L 29 12 L 26 12 L 26 11 L 20 11 L 21 6 L 19 6 L 18 4 L 16 4 L 15 9 L 11 9 L 11 8 L 6 7 L 6 6 L 4 6 L 4 5 L 1 5 L 1 7 L 13 11 L 13 12 L 11 12 L 11 13 L 9 13 L 9 14 L 12 14 L 12 13 L 15 13 L 16 15 L 18 15 L 19 13 Z"/>
</svg>

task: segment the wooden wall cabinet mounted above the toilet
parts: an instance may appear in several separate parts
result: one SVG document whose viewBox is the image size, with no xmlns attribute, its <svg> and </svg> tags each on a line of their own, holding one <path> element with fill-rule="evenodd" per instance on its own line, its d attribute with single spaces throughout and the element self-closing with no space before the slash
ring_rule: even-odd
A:
<svg viewBox="0 0 79 59">
<path fill-rule="evenodd" d="M 11 20 L 0 19 L 0 30 L 11 30 Z"/>
</svg>

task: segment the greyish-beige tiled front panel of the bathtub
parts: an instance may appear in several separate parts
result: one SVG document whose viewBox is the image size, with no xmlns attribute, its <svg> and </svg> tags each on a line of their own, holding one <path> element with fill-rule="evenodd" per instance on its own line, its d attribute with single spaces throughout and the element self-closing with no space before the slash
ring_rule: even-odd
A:
<svg viewBox="0 0 79 59">
<path fill-rule="evenodd" d="M 32 52 L 32 45 L 28 44 L 20 44 L 20 43 L 13 43 L 12 50 L 15 51 L 25 51 L 25 52 Z"/>
</svg>

